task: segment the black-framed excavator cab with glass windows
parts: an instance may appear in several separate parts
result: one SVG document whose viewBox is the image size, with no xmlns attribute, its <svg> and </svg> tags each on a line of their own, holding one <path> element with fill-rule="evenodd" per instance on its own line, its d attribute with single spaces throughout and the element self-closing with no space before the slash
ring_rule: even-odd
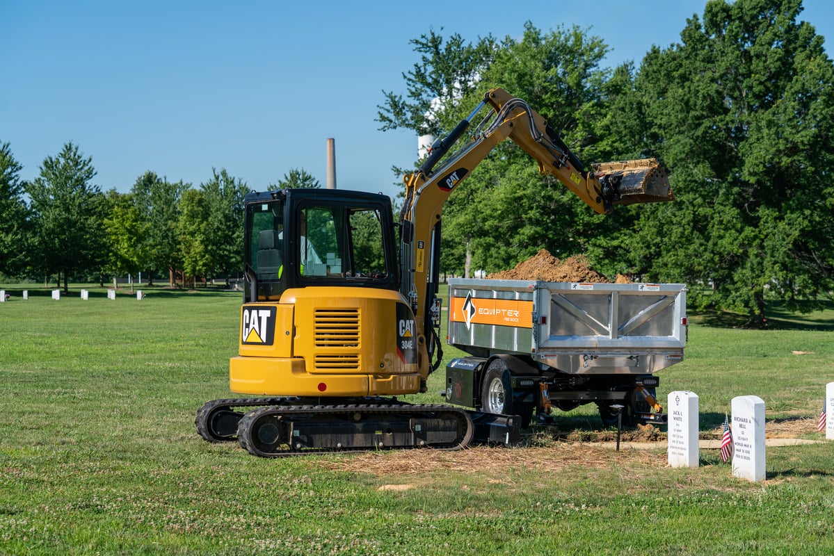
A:
<svg viewBox="0 0 834 556">
<path fill-rule="evenodd" d="M 247 303 L 279 301 L 293 288 L 398 288 L 384 195 L 288 189 L 249 193 L 244 204 Z"/>
</svg>

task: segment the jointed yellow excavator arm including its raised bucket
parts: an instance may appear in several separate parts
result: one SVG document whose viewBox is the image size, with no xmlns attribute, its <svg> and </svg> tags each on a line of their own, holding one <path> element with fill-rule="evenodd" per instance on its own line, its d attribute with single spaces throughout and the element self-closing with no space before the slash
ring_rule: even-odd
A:
<svg viewBox="0 0 834 556">
<path fill-rule="evenodd" d="M 470 131 L 475 118 L 486 107 L 490 110 Z M 464 136 L 468 136 L 468 140 L 446 157 Z M 673 200 L 666 173 L 655 159 L 586 168 L 545 118 L 525 101 L 500 88 L 490 90 L 469 117 L 447 137 L 432 145 L 428 158 L 417 172 L 404 178 L 405 202 L 400 212 L 400 289 L 414 309 L 421 355 L 420 374 L 424 378 L 440 362 L 440 340 L 436 332 L 440 322 L 440 307 L 436 300 L 440 213 L 460 181 L 507 138 L 538 163 L 540 173 L 553 174 L 596 213 L 610 213 L 617 204 Z M 431 365 L 429 360 L 434 354 L 437 362 Z"/>
</svg>

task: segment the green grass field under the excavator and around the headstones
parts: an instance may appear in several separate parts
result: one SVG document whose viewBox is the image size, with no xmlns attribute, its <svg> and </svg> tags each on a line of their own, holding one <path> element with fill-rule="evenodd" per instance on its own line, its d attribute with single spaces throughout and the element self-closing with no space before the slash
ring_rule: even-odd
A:
<svg viewBox="0 0 834 556">
<path fill-rule="evenodd" d="M 254 458 L 193 426 L 229 396 L 239 293 L 21 288 L 0 303 L 0 554 L 834 553 L 834 443 L 768 448 L 761 484 L 715 450 L 667 468 L 666 443 Z M 769 421 L 822 438 L 834 310 L 769 331 L 692 317 L 661 401 L 696 392 L 711 433 L 755 394 Z M 439 403 L 442 374 L 414 400 Z M 595 408 L 559 417 L 600 428 Z"/>
</svg>

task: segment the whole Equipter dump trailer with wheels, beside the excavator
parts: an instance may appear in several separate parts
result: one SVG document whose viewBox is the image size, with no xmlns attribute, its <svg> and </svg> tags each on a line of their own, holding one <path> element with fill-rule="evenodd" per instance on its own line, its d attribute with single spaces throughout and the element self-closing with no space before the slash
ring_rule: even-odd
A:
<svg viewBox="0 0 834 556">
<path fill-rule="evenodd" d="M 522 425 L 595 403 L 603 423 L 666 420 L 657 371 L 680 363 L 686 286 L 450 279 L 449 403 Z"/>
</svg>

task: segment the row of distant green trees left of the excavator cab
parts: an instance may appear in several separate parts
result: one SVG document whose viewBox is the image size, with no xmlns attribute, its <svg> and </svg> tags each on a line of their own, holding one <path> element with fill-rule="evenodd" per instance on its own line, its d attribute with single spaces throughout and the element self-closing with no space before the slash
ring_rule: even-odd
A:
<svg viewBox="0 0 834 556">
<path fill-rule="evenodd" d="M 243 252 L 246 183 L 221 169 L 206 182 L 138 177 L 129 193 L 93 184 L 91 157 L 66 143 L 43 160 L 31 182 L 9 143 L 0 144 L 0 273 L 70 279 L 136 275 L 153 284 L 206 276 L 236 276 Z"/>
</svg>

